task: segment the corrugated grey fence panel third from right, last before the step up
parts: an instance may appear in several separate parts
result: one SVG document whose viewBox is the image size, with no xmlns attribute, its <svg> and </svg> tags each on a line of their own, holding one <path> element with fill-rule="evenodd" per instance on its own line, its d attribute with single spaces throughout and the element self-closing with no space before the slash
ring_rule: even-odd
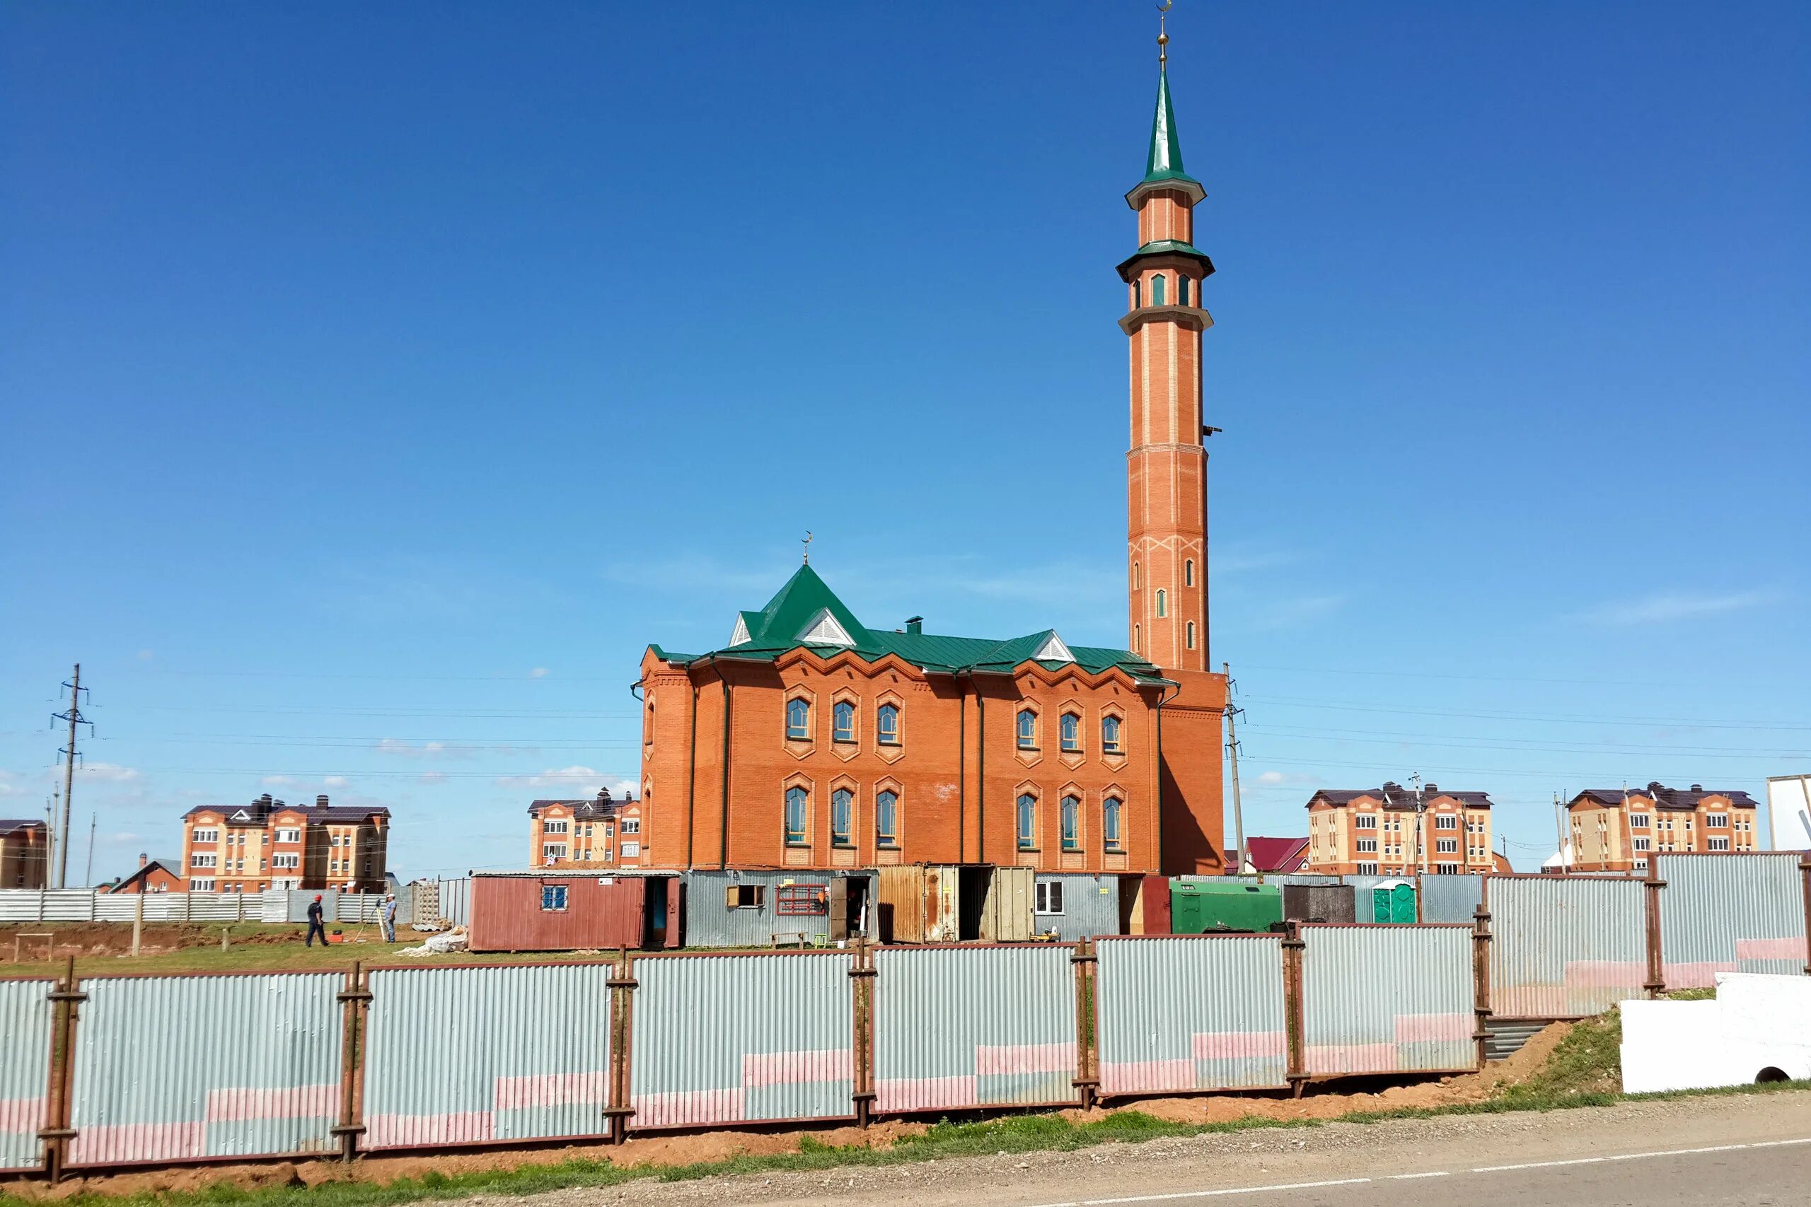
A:
<svg viewBox="0 0 1811 1207">
<path fill-rule="evenodd" d="M 1476 1068 L 1469 927 L 1302 927 L 1309 1075 Z"/>
</svg>

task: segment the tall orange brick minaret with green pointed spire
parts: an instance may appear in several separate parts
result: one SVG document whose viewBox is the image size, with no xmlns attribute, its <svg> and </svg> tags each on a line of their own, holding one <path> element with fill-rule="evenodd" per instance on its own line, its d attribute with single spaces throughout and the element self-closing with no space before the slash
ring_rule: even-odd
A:
<svg viewBox="0 0 1811 1207">
<path fill-rule="evenodd" d="M 1164 670 L 1208 670 L 1208 452 L 1203 447 L 1201 286 L 1195 203 L 1170 105 L 1168 34 L 1157 34 L 1157 116 L 1145 179 L 1126 194 L 1139 248 L 1119 266 L 1130 309 L 1132 451 L 1126 454 L 1128 641 Z"/>
</svg>

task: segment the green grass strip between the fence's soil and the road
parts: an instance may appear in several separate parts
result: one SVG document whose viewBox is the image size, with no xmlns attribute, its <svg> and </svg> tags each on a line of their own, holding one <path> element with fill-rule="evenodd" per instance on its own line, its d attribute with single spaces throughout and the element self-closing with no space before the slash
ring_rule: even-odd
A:
<svg viewBox="0 0 1811 1207">
<path fill-rule="evenodd" d="M 1769 1095 L 1811 1089 L 1807 1082 L 1737 1086 L 1695 1093 L 1621 1095 L 1599 1091 L 1550 1091 L 1547 1095 L 1503 1095 L 1487 1102 L 1445 1107 L 1404 1107 L 1393 1111 L 1355 1111 L 1331 1120 L 1275 1120 L 1246 1117 L 1224 1124 L 1174 1124 L 1135 1109 L 1112 1111 L 1105 1118 L 1072 1124 L 1059 1115 L 1012 1115 L 983 1122 L 940 1122 L 918 1136 L 896 1140 L 891 1147 L 831 1147 L 811 1138 L 799 1153 L 775 1156 L 732 1156 L 721 1162 L 688 1165 L 614 1165 L 608 1160 L 565 1160 L 522 1169 L 494 1169 L 464 1174 L 424 1174 L 393 1182 L 328 1182 L 315 1187 L 239 1189 L 212 1185 L 201 1191 L 110 1196 L 81 1193 L 58 1198 L 72 1207 L 389 1207 L 426 1200 L 465 1198 L 471 1194 L 536 1194 L 572 1187 L 621 1185 L 637 1180 L 686 1182 L 753 1173 L 800 1173 L 820 1169 L 904 1165 L 925 1160 L 992 1156 L 996 1153 L 1068 1151 L 1097 1144 L 1143 1144 L 1166 1136 L 1201 1136 L 1251 1129 L 1324 1127 L 1326 1124 L 1380 1124 L 1402 1118 L 1443 1115 L 1503 1115 L 1510 1111 L 1556 1111 L 1615 1102 Z M 43 1202 L 0 1193 L 0 1207 L 29 1207 Z"/>
</svg>

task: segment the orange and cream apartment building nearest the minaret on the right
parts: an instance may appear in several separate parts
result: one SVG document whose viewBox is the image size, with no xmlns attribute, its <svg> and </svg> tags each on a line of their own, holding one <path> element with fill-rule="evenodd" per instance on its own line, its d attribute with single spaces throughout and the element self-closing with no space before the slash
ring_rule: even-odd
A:
<svg viewBox="0 0 1811 1207">
<path fill-rule="evenodd" d="M 1400 784 L 1308 802 L 1308 870 L 1358 876 L 1490 872 L 1490 796 Z"/>
</svg>

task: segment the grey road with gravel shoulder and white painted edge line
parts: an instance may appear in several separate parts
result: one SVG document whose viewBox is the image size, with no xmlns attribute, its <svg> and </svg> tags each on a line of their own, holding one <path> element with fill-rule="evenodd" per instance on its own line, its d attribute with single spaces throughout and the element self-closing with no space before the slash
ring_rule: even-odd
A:
<svg viewBox="0 0 1811 1207">
<path fill-rule="evenodd" d="M 1246 1131 L 1078 1153 L 630 1183 L 518 1203 L 1804 1207 L 1811 1091 Z"/>
</svg>

